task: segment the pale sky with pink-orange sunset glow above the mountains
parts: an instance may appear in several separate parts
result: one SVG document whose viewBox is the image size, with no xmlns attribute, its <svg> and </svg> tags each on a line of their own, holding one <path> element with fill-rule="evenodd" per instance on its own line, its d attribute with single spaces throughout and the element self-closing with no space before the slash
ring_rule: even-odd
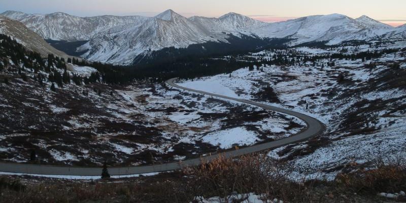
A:
<svg viewBox="0 0 406 203">
<path fill-rule="evenodd" d="M 302 16 L 340 13 L 352 18 L 367 15 L 394 26 L 406 23 L 406 0 L 1 0 L 0 12 L 64 12 L 77 16 L 154 16 L 172 9 L 186 17 L 219 17 L 228 12 L 275 22 Z"/>
</svg>

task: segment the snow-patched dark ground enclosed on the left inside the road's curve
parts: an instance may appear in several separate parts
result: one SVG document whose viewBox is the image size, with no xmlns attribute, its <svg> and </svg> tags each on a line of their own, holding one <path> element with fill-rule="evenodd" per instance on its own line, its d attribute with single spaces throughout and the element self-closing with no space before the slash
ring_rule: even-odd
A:
<svg viewBox="0 0 406 203">
<path fill-rule="evenodd" d="M 81 76 L 95 71 L 72 64 L 68 70 Z M 58 164 L 100 164 L 110 157 L 112 164 L 138 165 L 149 154 L 154 162 L 177 161 L 290 136 L 304 126 L 283 114 L 160 84 L 72 83 L 55 93 L 49 81 L 12 83 L 0 84 L 0 109 L 9 122 L 0 132 L 0 154 L 7 161 L 26 162 L 32 150 L 41 162 Z M 31 131 L 49 132 L 32 137 Z M 20 148 L 17 140 L 28 147 Z"/>
</svg>

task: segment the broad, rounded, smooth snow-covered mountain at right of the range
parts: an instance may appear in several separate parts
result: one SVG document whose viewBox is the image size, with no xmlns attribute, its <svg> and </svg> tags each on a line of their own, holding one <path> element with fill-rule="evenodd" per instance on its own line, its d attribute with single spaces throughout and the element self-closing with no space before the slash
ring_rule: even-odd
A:
<svg viewBox="0 0 406 203">
<path fill-rule="evenodd" d="M 270 23 L 257 31 L 260 37 L 291 38 L 293 45 L 327 41 L 340 44 L 351 40 L 370 40 L 393 31 L 394 28 L 367 16 L 352 19 L 341 14 L 316 15 Z"/>
</svg>

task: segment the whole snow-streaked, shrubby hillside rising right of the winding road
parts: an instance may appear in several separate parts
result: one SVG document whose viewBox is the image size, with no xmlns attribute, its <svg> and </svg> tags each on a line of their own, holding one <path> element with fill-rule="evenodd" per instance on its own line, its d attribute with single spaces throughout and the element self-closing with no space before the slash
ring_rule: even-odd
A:
<svg viewBox="0 0 406 203">
<path fill-rule="evenodd" d="M 391 43 L 317 49 L 264 50 L 235 58 L 254 65 L 180 85 L 259 100 L 311 115 L 326 131 L 309 141 L 271 150 L 291 163 L 295 179 L 334 179 L 337 173 L 390 162 L 406 151 L 406 49 Z M 286 58 L 288 57 L 288 58 Z"/>
</svg>

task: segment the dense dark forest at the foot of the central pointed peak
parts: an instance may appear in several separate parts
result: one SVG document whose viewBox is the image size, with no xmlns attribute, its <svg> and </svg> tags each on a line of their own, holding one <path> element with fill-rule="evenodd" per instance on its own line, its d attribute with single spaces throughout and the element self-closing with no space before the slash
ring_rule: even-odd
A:
<svg viewBox="0 0 406 203">
<path fill-rule="evenodd" d="M 167 79 L 196 78 L 216 74 L 229 74 L 253 61 L 234 60 L 239 54 L 267 48 L 286 48 L 286 39 L 258 39 L 249 36 L 229 36 L 229 43 L 207 42 L 187 48 L 164 48 L 134 59 L 134 65 L 119 66 L 99 62 L 72 60 L 74 64 L 91 66 L 100 72 L 103 82 L 122 84 L 133 80 L 149 80 L 152 83 Z M 224 55 L 232 57 L 218 59 Z"/>
</svg>

